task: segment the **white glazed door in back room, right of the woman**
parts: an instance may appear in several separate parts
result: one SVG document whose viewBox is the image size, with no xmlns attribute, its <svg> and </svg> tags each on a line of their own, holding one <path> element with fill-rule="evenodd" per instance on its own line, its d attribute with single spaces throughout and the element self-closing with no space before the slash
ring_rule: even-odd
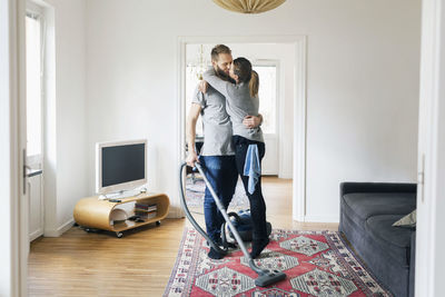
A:
<svg viewBox="0 0 445 297">
<path fill-rule="evenodd" d="M 259 76 L 259 113 L 263 115 L 263 133 L 266 145 L 266 155 L 261 162 L 261 174 L 277 176 L 279 171 L 278 156 L 278 61 L 256 61 L 254 70 Z"/>
</svg>

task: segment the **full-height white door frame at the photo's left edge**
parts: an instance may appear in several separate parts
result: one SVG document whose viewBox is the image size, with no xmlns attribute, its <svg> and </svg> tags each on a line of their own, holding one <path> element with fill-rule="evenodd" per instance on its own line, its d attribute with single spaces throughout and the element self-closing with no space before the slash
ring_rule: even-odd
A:
<svg viewBox="0 0 445 297">
<path fill-rule="evenodd" d="M 27 296 L 29 241 L 28 216 L 22 211 L 27 209 L 21 154 L 26 148 L 27 128 L 22 125 L 26 123 L 26 98 L 24 49 L 21 46 L 24 43 L 24 10 L 21 0 L 0 1 L 0 224 L 3 227 L 0 289 L 3 296 Z"/>
</svg>

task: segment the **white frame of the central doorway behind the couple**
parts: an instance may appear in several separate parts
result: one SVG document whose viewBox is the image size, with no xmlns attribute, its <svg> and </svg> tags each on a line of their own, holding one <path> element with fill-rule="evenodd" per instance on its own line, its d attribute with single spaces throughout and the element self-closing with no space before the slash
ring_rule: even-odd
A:
<svg viewBox="0 0 445 297">
<path fill-rule="evenodd" d="M 306 36 L 178 37 L 178 150 L 177 161 L 185 159 L 186 46 L 188 43 L 288 43 L 295 46 L 294 91 L 294 181 L 293 219 L 304 221 L 306 214 Z M 179 182 L 177 192 L 179 192 Z M 179 205 L 179 197 L 175 205 Z M 180 216 L 177 208 L 175 216 Z"/>
</svg>

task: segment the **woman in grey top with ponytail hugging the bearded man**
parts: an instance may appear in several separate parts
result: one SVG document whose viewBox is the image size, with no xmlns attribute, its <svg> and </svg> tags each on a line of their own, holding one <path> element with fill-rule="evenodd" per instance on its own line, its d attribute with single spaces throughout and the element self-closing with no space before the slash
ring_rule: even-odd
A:
<svg viewBox="0 0 445 297">
<path fill-rule="evenodd" d="M 266 227 L 266 204 L 261 192 L 259 168 L 260 161 L 265 156 L 265 143 L 261 129 L 259 127 L 253 128 L 255 125 L 251 117 L 249 117 L 249 115 L 258 116 L 259 80 L 258 75 L 251 70 L 251 63 L 245 58 L 234 60 L 230 66 L 230 78 L 235 83 L 220 79 L 214 69 L 209 69 L 204 73 L 204 80 L 222 93 L 227 100 L 226 109 L 233 123 L 233 141 L 237 170 L 250 201 L 250 212 L 254 224 L 250 256 L 255 259 L 269 242 Z M 248 160 L 247 166 L 246 157 Z M 249 167 L 251 160 L 258 160 L 257 169 L 259 170 L 256 170 L 254 166 L 254 170 L 250 170 L 253 176 L 249 184 L 249 176 L 246 176 L 247 170 L 245 169 Z"/>
</svg>

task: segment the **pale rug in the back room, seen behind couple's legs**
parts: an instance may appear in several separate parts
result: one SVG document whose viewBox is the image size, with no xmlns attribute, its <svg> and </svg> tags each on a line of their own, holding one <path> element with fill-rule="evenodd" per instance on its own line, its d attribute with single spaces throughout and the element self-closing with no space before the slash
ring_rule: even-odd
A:
<svg viewBox="0 0 445 297">
<path fill-rule="evenodd" d="M 196 175 L 195 178 L 187 176 L 186 180 L 186 201 L 188 207 L 201 207 L 204 205 L 204 191 L 206 190 L 206 184 L 202 178 Z M 234 198 L 229 205 L 233 209 L 246 209 L 249 208 L 249 199 L 244 190 L 243 182 L 238 179 L 238 184 L 235 190 Z"/>
</svg>

